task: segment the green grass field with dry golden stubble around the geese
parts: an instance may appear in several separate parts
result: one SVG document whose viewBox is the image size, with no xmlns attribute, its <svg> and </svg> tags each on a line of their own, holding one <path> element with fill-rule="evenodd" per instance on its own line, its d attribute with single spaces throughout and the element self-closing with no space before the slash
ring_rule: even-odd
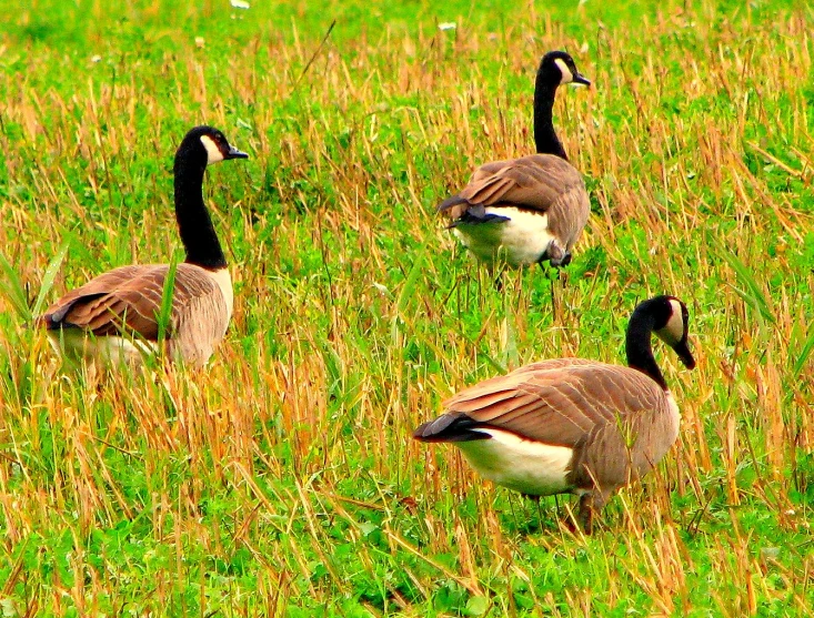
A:
<svg viewBox="0 0 814 618">
<path fill-rule="evenodd" d="M 0 0 L 2 616 L 814 615 L 814 9 L 105 4 Z M 553 300 L 434 214 L 533 150 L 550 49 L 594 83 L 555 107 L 593 212 Z M 204 122 L 251 155 L 204 188 L 225 342 L 60 371 L 32 312 L 182 257 L 172 154 Z M 504 369 L 623 363 L 663 292 L 699 361 L 656 349 L 681 437 L 594 536 L 411 439 Z"/>
</svg>

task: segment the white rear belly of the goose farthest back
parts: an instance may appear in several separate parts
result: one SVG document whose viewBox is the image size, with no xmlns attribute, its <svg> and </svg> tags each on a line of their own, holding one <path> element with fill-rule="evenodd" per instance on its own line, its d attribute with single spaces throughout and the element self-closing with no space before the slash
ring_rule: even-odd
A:
<svg viewBox="0 0 814 618">
<path fill-rule="evenodd" d="M 482 262 L 505 261 L 511 266 L 540 262 L 554 236 L 549 232 L 549 215 L 514 207 L 486 207 L 488 214 L 506 216 L 494 223 L 462 223 L 455 235 Z"/>
</svg>

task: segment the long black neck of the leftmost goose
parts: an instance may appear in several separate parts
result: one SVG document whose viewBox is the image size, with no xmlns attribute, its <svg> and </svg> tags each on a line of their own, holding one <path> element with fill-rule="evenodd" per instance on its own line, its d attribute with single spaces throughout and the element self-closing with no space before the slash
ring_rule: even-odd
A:
<svg viewBox="0 0 814 618">
<path fill-rule="evenodd" d="M 209 210 L 203 202 L 203 172 L 205 153 L 179 150 L 175 155 L 175 219 L 181 242 L 187 250 L 185 262 L 204 269 L 218 270 L 227 259 L 218 241 Z"/>
</svg>

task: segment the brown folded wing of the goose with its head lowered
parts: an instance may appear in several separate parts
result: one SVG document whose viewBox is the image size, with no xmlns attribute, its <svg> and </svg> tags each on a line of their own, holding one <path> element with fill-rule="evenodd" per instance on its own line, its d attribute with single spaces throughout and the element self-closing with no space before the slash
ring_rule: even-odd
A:
<svg viewBox="0 0 814 618">
<path fill-rule="evenodd" d="M 662 409 L 664 399 L 659 385 L 635 369 L 579 358 L 544 361 L 461 391 L 444 403 L 446 414 L 419 427 L 415 437 L 472 439 L 472 429 L 488 426 L 576 448 L 620 418 Z"/>
</svg>

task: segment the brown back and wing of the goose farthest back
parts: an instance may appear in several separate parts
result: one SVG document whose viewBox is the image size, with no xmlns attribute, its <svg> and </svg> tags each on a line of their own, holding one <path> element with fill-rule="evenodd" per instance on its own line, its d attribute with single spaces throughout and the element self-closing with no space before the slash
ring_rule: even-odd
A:
<svg viewBox="0 0 814 618">
<path fill-rule="evenodd" d="M 453 220 L 471 207 L 513 206 L 549 213 L 549 227 L 569 246 L 585 226 L 591 205 L 580 173 L 553 154 L 532 154 L 480 166 L 439 211 Z"/>
</svg>

